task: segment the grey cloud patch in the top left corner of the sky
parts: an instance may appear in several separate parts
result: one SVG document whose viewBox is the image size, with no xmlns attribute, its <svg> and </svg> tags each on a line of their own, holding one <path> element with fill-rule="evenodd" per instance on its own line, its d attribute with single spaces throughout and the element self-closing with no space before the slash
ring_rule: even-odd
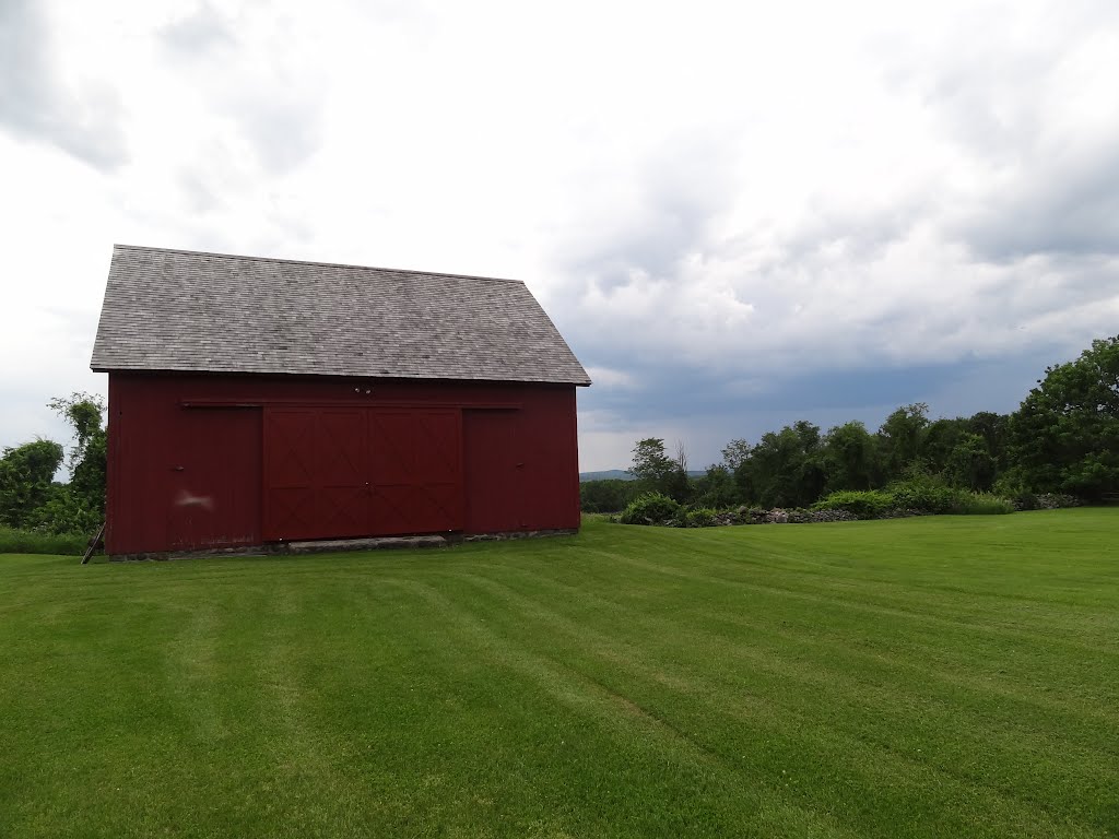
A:
<svg viewBox="0 0 1119 839">
<path fill-rule="evenodd" d="M 91 85 L 67 92 L 50 55 L 43 4 L 0 0 L 0 125 L 50 143 L 97 169 L 128 160 L 114 92 Z"/>
</svg>

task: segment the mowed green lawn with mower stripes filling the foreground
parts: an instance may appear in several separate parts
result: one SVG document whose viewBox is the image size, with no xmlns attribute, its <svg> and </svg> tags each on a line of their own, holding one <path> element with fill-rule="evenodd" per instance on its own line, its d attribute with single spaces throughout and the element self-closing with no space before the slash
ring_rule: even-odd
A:
<svg viewBox="0 0 1119 839">
<path fill-rule="evenodd" d="M 1113 837 L 1117 536 L 0 556 L 0 836 Z"/>
</svg>

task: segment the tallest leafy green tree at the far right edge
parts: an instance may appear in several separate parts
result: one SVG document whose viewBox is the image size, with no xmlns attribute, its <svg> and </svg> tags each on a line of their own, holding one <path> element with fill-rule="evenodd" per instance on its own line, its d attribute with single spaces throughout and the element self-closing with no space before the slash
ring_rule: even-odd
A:
<svg viewBox="0 0 1119 839">
<path fill-rule="evenodd" d="M 1119 492 L 1119 336 L 1045 368 L 1010 417 L 1008 456 L 1035 492 L 1088 500 Z"/>
</svg>

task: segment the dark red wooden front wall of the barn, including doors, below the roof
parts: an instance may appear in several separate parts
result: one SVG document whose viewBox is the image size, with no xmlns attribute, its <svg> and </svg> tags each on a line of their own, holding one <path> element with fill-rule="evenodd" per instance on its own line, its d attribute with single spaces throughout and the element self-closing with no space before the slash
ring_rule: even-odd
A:
<svg viewBox="0 0 1119 839">
<path fill-rule="evenodd" d="M 110 554 L 579 527 L 575 387 L 111 373 Z"/>
</svg>

